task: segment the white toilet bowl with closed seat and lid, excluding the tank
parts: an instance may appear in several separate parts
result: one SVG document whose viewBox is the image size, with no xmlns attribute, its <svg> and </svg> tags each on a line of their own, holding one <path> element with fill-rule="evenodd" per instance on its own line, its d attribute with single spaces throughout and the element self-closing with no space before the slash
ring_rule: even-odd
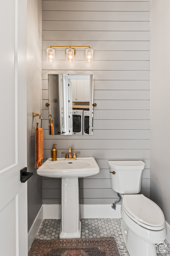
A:
<svg viewBox="0 0 170 256">
<path fill-rule="evenodd" d="M 157 256 L 155 244 L 167 235 L 163 212 L 144 195 L 122 195 L 121 229 L 130 256 Z"/>
</svg>

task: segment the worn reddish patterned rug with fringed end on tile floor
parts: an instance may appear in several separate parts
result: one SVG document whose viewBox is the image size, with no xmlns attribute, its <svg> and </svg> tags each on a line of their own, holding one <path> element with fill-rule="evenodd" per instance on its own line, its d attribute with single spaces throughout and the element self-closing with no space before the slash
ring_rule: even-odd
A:
<svg viewBox="0 0 170 256">
<path fill-rule="evenodd" d="M 35 239 L 28 256 L 121 256 L 114 237 Z"/>
</svg>

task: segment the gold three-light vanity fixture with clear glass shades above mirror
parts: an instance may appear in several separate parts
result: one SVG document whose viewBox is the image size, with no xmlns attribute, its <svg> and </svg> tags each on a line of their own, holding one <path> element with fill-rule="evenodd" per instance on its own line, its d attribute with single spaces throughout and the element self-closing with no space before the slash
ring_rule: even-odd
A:
<svg viewBox="0 0 170 256">
<path fill-rule="evenodd" d="M 72 48 L 88 48 L 86 49 L 86 63 L 93 62 L 93 49 L 90 46 L 50 46 L 46 50 L 46 59 L 48 63 L 53 63 L 55 60 L 55 51 L 52 48 L 68 48 L 66 50 L 66 61 L 67 63 L 72 63 L 74 61 L 75 50 Z"/>
</svg>

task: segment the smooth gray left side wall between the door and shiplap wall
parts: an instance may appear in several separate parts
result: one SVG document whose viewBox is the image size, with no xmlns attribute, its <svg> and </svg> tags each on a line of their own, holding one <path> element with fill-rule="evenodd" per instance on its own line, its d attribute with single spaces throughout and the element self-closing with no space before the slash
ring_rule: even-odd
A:
<svg viewBox="0 0 170 256">
<path fill-rule="evenodd" d="M 32 114 L 33 112 L 41 114 L 42 111 L 42 3 L 40 0 L 27 1 L 27 56 L 29 56 L 27 57 L 27 171 L 34 173 L 27 181 L 29 231 L 42 206 L 42 177 L 37 174 L 34 167 L 36 122 L 40 127 L 41 121 Z M 18 107 L 22 108 L 22 106 Z M 26 188 L 26 185 L 24 186 Z M 27 221 L 27 216 L 25 219 Z"/>
</svg>

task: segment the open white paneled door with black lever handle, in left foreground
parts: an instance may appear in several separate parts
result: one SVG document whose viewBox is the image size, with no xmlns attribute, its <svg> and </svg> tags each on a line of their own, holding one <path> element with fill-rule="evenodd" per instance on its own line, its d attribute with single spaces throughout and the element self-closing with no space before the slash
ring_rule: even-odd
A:
<svg viewBox="0 0 170 256">
<path fill-rule="evenodd" d="M 27 182 L 20 182 L 26 154 L 26 0 L 0 8 L 0 255 L 26 256 Z"/>
</svg>

